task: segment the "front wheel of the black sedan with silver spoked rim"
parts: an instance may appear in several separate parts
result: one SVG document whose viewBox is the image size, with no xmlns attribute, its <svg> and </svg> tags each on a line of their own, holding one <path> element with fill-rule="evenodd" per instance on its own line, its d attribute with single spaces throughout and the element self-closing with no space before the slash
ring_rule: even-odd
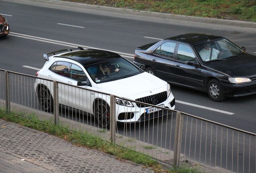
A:
<svg viewBox="0 0 256 173">
<path fill-rule="evenodd" d="M 225 99 L 221 84 L 216 79 L 208 82 L 207 93 L 213 101 L 221 102 Z"/>
</svg>

